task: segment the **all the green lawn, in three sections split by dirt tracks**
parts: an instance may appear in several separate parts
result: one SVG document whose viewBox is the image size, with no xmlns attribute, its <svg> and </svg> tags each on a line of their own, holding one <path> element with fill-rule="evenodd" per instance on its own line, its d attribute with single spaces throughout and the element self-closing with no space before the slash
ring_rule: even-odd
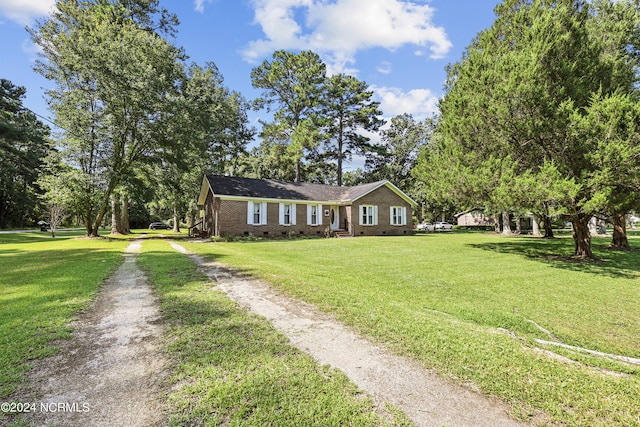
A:
<svg viewBox="0 0 640 427">
<path fill-rule="evenodd" d="M 0 400 L 20 389 L 30 360 L 69 337 L 74 313 L 122 259 L 126 241 L 78 234 L 0 235 Z M 640 247 L 636 236 L 630 241 Z M 571 239 L 481 233 L 185 245 L 446 377 L 476 384 L 520 418 L 637 426 L 638 366 L 537 344 L 549 337 L 531 323 L 567 344 L 640 358 L 640 252 L 609 251 L 608 242 L 594 239 L 599 263 L 565 257 Z M 143 248 L 175 362 L 167 404 L 173 425 L 404 422 L 389 414 L 381 420 L 342 374 L 318 367 L 212 290 L 166 242 Z"/>
</svg>

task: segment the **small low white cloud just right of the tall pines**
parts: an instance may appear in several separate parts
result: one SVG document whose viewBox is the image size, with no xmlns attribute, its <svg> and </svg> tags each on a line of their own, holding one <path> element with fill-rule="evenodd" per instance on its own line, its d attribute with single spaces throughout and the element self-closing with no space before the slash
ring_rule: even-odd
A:
<svg viewBox="0 0 640 427">
<path fill-rule="evenodd" d="M 409 113 L 416 120 L 424 120 L 438 111 L 438 97 L 429 89 L 412 89 L 404 92 L 394 87 L 372 86 L 380 100 L 385 117 Z"/>
</svg>

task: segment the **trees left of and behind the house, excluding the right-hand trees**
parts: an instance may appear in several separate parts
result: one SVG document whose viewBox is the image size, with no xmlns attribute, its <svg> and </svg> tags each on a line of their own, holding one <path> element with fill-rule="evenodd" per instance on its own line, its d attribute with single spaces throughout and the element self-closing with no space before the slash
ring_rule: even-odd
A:
<svg viewBox="0 0 640 427">
<path fill-rule="evenodd" d="M 54 86 L 46 95 L 59 131 L 50 135 L 34 119 L 42 135 L 30 140 L 39 150 L 24 179 L 30 197 L 0 193 L 12 203 L 25 200 L 0 211 L 0 227 L 31 225 L 46 211 L 50 219 L 72 214 L 97 236 L 110 213 L 111 231 L 126 233 L 129 212 L 142 205 L 147 216 L 172 216 L 178 231 L 182 219 L 194 222 L 195 193 L 207 173 L 337 185 L 393 174 L 409 182 L 412 164 L 394 169 L 390 160 L 415 162 L 429 122 L 399 116 L 383 133 L 388 149 L 370 144 L 363 131 L 384 123 L 372 92 L 352 76 L 327 77 L 309 51 L 278 51 L 256 67 L 251 79 L 263 96 L 250 103 L 223 85 L 213 62 L 187 64 L 171 42 L 177 25 L 158 1 L 60 0 L 28 28 L 42 49 L 35 71 Z M 3 81 L 2 96 L 21 105 L 24 89 Z M 27 111 L 2 107 L 7 126 Z M 251 108 L 272 112 L 273 121 L 262 123 L 261 142 L 249 150 L 257 133 L 247 119 Z M 25 128 L 22 137 L 28 135 Z M 3 147 L 18 145 L 1 137 Z M 343 162 L 353 155 L 367 156 L 367 173 L 345 176 Z M 19 168 L 17 159 L 2 159 Z M 3 184 L 19 178 L 3 172 Z"/>
</svg>

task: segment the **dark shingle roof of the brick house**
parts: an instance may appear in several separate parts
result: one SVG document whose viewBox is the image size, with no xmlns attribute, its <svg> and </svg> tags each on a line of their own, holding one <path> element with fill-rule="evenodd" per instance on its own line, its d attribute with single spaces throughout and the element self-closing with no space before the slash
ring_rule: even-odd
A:
<svg viewBox="0 0 640 427">
<path fill-rule="evenodd" d="M 209 186 L 217 196 L 255 197 L 265 199 L 351 201 L 364 196 L 387 181 L 355 187 L 274 181 L 270 179 L 239 178 L 207 175 Z"/>
</svg>

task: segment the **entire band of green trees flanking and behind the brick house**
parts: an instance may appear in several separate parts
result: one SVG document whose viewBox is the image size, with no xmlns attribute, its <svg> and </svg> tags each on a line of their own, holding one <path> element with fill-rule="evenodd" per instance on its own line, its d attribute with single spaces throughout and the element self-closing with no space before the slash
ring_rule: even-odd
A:
<svg viewBox="0 0 640 427">
<path fill-rule="evenodd" d="M 158 1 L 58 1 L 29 31 L 62 130 L 50 136 L 21 109 L 23 89 L 3 81 L 0 227 L 35 219 L 45 203 L 83 218 L 88 235 L 108 213 L 112 231 L 126 232 L 140 205 L 190 224 L 202 176 L 227 173 L 390 179 L 423 213 L 481 207 L 508 224 L 532 212 L 548 236 L 562 216 L 581 257 L 593 256 L 588 221 L 606 216 L 613 246 L 628 248 L 624 216 L 637 208 L 640 176 L 639 3 L 505 0 L 448 66 L 439 115 L 385 123 L 367 84 L 327 76 L 314 52 L 274 52 L 252 70 L 261 95 L 249 102 L 213 62 L 186 64 L 170 41 L 178 19 Z M 271 114 L 259 132 L 251 108 Z M 344 172 L 353 156 L 364 168 Z"/>
</svg>

